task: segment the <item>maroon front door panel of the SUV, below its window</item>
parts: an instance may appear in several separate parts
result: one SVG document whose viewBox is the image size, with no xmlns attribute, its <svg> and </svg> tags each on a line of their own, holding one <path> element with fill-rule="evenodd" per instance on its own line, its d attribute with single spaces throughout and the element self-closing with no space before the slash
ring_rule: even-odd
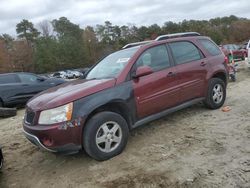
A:
<svg viewBox="0 0 250 188">
<path fill-rule="evenodd" d="M 178 79 L 168 76 L 175 73 L 171 67 L 133 80 L 137 115 L 143 118 L 177 104 L 180 97 Z"/>
</svg>

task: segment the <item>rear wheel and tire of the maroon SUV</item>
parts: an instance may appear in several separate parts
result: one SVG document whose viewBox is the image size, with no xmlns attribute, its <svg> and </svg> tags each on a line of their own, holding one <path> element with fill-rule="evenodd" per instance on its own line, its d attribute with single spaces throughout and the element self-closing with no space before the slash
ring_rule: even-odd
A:
<svg viewBox="0 0 250 188">
<path fill-rule="evenodd" d="M 216 93 L 217 92 L 217 93 Z M 220 108 L 226 99 L 226 85 L 219 78 L 211 78 L 208 83 L 207 97 L 204 101 L 210 109 Z"/>
</svg>

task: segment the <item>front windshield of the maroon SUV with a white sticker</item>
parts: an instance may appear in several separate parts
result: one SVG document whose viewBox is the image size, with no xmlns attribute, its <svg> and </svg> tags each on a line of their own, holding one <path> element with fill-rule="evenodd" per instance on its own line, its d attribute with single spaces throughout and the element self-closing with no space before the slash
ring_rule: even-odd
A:
<svg viewBox="0 0 250 188">
<path fill-rule="evenodd" d="M 117 77 L 138 48 L 137 46 L 108 55 L 88 73 L 86 79 Z"/>
</svg>

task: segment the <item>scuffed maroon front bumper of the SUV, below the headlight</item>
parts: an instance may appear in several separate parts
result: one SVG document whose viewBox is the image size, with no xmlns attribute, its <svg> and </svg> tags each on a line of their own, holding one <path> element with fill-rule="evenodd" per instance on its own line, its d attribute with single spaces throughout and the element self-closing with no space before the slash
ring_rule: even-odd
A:
<svg viewBox="0 0 250 188">
<path fill-rule="evenodd" d="M 23 132 L 31 143 L 45 151 L 76 153 L 82 149 L 82 126 L 69 127 L 68 124 L 29 125 L 24 122 Z"/>
</svg>

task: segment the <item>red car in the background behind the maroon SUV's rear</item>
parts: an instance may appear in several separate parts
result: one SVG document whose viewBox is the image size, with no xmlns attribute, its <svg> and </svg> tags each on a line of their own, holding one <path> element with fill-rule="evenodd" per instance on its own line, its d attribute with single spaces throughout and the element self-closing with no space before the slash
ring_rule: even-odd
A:
<svg viewBox="0 0 250 188">
<path fill-rule="evenodd" d="M 236 44 L 225 44 L 220 46 L 221 50 L 228 56 L 229 54 L 233 54 L 234 59 L 244 60 L 247 57 L 247 50 L 240 48 Z"/>
</svg>

